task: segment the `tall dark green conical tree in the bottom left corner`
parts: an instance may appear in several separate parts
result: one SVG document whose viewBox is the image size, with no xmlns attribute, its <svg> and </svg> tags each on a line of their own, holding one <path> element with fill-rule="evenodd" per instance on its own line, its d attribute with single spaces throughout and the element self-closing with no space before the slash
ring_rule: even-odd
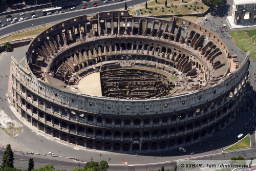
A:
<svg viewBox="0 0 256 171">
<path fill-rule="evenodd" d="M 6 150 L 5 150 L 3 158 L 2 158 L 1 168 L 2 169 L 8 168 L 8 167 L 13 168 L 13 160 L 14 160 L 14 155 L 12 152 L 11 145 L 7 144 Z"/>
</svg>

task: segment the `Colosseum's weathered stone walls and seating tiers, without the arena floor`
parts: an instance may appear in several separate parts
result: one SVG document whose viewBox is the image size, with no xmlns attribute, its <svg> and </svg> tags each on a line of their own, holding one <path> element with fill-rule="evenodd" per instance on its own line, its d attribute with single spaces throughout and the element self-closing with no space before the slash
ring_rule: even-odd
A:
<svg viewBox="0 0 256 171">
<path fill-rule="evenodd" d="M 111 28 L 104 28 L 106 22 L 111 23 Z M 114 22 L 118 27 L 113 26 Z M 120 22 L 125 22 L 124 28 L 120 28 Z M 127 22 L 131 22 L 130 28 Z M 165 27 L 149 29 L 148 23 Z M 93 29 L 95 24 L 97 29 Z M 56 86 L 57 83 L 50 80 L 57 79 L 48 74 L 48 82 L 40 79 L 38 59 L 44 58 L 44 61 L 57 47 L 76 42 L 77 34 L 97 36 L 108 32 L 126 32 L 132 36 L 95 39 L 64 50 L 51 59 L 46 68 L 47 73 L 55 71 L 63 84 Z M 142 33 L 167 36 L 172 41 L 133 36 Z M 178 42 L 191 48 L 182 47 Z M 130 52 L 129 47 L 135 52 Z M 147 66 L 143 60 L 151 62 L 153 68 L 161 63 L 160 69 L 166 73 L 172 72 L 168 66 L 186 74 L 193 67 L 202 72 L 204 80 L 209 79 L 205 62 L 208 59 L 215 74 L 205 88 L 150 99 L 92 97 L 67 91 L 65 75 L 87 74 L 93 66 L 109 67 L 123 60 L 123 55 L 141 58 L 135 63 L 138 66 Z M 162 20 L 131 16 L 125 11 L 102 12 L 90 20 L 86 15 L 68 19 L 40 33 L 28 48 L 26 69 L 12 57 L 8 94 L 21 116 L 38 130 L 63 141 L 120 151 L 166 149 L 206 137 L 238 115 L 245 95 L 249 55 L 247 53 L 242 65 L 229 73 L 227 47 L 216 34 L 200 25 L 179 17 Z"/>
</svg>

